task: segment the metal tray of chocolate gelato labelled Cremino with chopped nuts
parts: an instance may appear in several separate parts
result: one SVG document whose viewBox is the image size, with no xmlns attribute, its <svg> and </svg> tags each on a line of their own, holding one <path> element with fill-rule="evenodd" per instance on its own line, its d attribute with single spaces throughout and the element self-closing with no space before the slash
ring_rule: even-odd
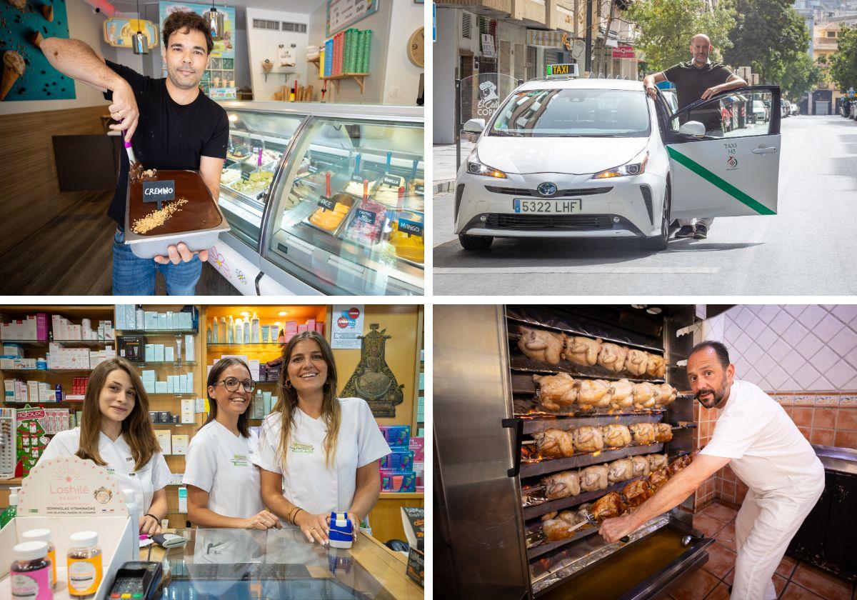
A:
<svg viewBox="0 0 857 600">
<path fill-rule="evenodd" d="M 175 184 L 173 199 L 143 201 L 144 182 Z M 164 188 L 165 189 L 165 188 Z M 163 191 L 163 189 L 161 190 Z M 125 200 L 125 243 L 141 258 L 167 255 L 172 244 L 185 243 L 191 251 L 216 243 L 231 227 L 199 171 L 147 169 L 132 165 Z"/>
</svg>

